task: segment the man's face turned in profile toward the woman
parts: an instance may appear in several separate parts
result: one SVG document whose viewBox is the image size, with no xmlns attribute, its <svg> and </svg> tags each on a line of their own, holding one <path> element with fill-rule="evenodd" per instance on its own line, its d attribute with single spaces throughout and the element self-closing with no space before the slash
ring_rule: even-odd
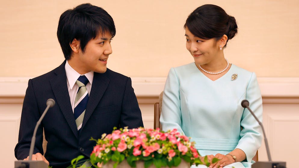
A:
<svg viewBox="0 0 299 168">
<path fill-rule="evenodd" d="M 109 33 L 99 33 L 98 37 L 88 41 L 84 53 L 81 48 L 79 48 L 76 61 L 73 62 L 76 65 L 72 67 L 80 74 L 85 74 L 90 71 L 105 73 L 109 54 L 112 53 L 110 42 L 111 35 Z"/>
</svg>

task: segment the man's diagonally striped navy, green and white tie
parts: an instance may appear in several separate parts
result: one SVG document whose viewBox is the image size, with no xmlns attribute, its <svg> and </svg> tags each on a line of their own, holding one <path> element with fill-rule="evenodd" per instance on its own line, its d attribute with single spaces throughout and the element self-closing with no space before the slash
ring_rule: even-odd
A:
<svg viewBox="0 0 299 168">
<path fill-rule="evenodd" d="M 85 109 L 88 102 L 88 92 L 86 89 L 86 85 L 88 84 L 88 82 L 89 81 L 86 76 L 80 76 L 76 81 L 79 89 L 75 99 L 74 116 L 78 130 L 80 130 L 80 128 L 82 127 Z"/>
</svg>

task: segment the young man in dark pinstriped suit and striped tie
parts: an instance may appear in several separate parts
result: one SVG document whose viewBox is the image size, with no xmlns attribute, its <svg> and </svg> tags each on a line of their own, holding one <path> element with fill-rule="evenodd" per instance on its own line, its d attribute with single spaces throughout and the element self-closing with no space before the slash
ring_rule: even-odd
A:
<svg viewBox="0 0 299 168">
<path fill-rule="evenodd" d="M 44 160 L 53 168 L 67 167 L 81 154 L 88 158 L 96 145 L 91 137 L 98 139 L 113 127 L 143 127 L 131 79 L 106 67 L 115 33 L 112 17 L 97 6 L 82 4 L 61 14 L 57 37 L 66 60 L 28 82 L 17 159 L 28 160 L 35 124 L 49 98 L 56 104 L 37 130 L 32 160 Z"/>
</svg>

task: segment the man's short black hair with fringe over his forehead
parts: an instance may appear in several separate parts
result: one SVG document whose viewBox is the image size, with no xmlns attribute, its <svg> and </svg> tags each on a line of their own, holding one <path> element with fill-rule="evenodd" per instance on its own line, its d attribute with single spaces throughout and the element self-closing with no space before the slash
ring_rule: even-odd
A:
<svg viewBox="0 0 299 168">
<path fill-rule="evenodd" d="M 102 31 L 102 32 L 99 32 Z M 72 49 L 69 44 L 76 38 L 80 40 L 82 52 L 92 38 L 96 38 L 99 33 L 109 32 L 112 37 L 116 30 L 112 17 L 103 9 L 89 3 L 69 9 L 61 14 L 57 38 L 66 60 L 70 59 Z"/>
</svg>

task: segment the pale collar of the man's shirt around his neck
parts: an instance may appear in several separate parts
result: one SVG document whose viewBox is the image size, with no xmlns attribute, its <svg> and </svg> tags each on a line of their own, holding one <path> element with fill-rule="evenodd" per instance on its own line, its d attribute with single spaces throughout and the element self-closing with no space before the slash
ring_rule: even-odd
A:
<svg viewBox="0 0 299 168">
<path fill-rule="evenodd" d="M 77 79 L 79 78 L 79 76 L 83 76 L 83 75 L 86 76 L 89 83 L 92 85 L 92 80 L 94 78 L 94 72 L 93 71 L 90 71 L 86 74 L 81 75 L 69 65 L 67 60 L 66 60 L 64 68 L 65 68 L 66 78 L 67 78 L 67 81 L 69 82 L 70 89 L 72 89 L 74 87 L 74 85 L 75 85 Z"/>
</svg>

